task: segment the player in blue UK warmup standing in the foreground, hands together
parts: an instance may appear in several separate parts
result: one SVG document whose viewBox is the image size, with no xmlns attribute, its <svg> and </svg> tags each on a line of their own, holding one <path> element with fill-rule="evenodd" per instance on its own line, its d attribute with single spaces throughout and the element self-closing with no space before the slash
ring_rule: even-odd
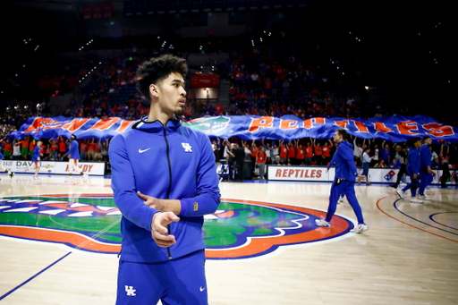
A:
<svg viewBox="0 0 458 305">
<path fill-rule="evenodd" d="M 148 117 L 110 143 L 114 202 L 123 214 L 116 304 L 208 304 L 204 215 L 220 202 L 208 136 L 183 126 L 186 61 L 141 64 Z"/>
</svg>

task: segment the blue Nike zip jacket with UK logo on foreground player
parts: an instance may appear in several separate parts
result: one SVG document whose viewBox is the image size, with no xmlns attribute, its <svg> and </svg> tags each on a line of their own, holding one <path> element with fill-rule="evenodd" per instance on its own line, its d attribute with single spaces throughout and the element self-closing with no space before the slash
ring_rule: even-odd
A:
<svg viewBox="0 0 458 305">
<path fill-rule="evenodd" d="M 205 249 L 204 215 L 215 213 L 220 202 L 215 155 L 208 136 L 179 120 L 140 120 L 116 135 L 109 148 L 114 203 L 123 214 L 121 258 L 131 262 L 159 262 Z M 169 225 L 176 243 L 158 247 L 151 237 L 156 209 L 137 191 L 157 199 L 179 199 L 180 221 Z"/>
</svg>

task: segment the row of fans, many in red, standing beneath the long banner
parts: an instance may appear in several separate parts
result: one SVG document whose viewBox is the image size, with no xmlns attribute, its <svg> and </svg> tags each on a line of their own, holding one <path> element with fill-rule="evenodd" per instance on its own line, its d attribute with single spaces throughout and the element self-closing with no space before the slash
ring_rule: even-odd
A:
<svg viewBox="0 0 458 305">
<path fill-rule="evenodd" d="M 25 122 L 31 113 L 21 114 L 21 123 Z M 6 160 L 30 160 L 31 152 L 37 140 L 31 136 L 23 139 L 13 139 L 11 132 L 18 130 L 18 122 L 11 116 L 3 115 L 0 118 L 0 148 Z M 66 161 L 64 156 L 68 151 L 70 141 L 64 137 L 42 140 L 41 154 L 43 161 Z M 106 162 L 109 164 L 109 140 L 78 140 L 80 143 L 81 161 Z M 265 178 L 264 165 L 310 165 L 327 166 L 334 156 L 336 146 L 331 139 L 318 140 L 312 138 L 284 140 L 254 140 L 245 141 L 232 137 L 229 140 L 213 138 L 216 162 L 230 165 L 236 164 L 232 153 L 242 149 L 242 162 L 249 165 L 250 174 L 244 178 L 254 177 L 254 168 L 263 168 L 259 178 Z M 408 146 L 406 142 L 393 143 L 385 140 L 365 140 L 352 137 L 350 140 L 354 148 L 354 160 L 358 166 L 363 165 L 364 154 L 370 158 L 370 167 L 400 168 L 406 162 Z M 440 169 L 445 162 L 451 168 L 458 165 L 458 143 L 439 143 L 431 145 L 431 167 Z M 367 158 L 366 157 L 366 158 Z M 241 159 L 239 159 L 239 165 Z M 255 166 L 252 166 L 255 165 Z M 234 171 L 236 172 L 236 171 Z"/>
</svg>

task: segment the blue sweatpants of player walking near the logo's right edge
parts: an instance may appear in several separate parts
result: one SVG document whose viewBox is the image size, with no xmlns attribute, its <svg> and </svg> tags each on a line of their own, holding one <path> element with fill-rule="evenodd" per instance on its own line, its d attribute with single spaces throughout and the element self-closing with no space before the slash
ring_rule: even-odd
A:
<svg viewBox="0 0 458 305">
<path fill-rule="evenodd" d="M 335 209 L 337 208 L 337 201 L 340 195 L 344 194 L 347 197 L 348 203 L 352 206 L 354 214 L 356 214 L 358 224 L 364 224 L 360 203 L 358 203 L 358 199 L 356 199 L 356 194 L 354 193 L 354 183 L 354 181 L 340 178 L 335 179 L 331 187 L 331 195 L 329 196 L 329 207 L 327 208 L 327 216 L 325 219 L 327 222 L 331 221 L 331 218 L 335 214 Z"/>
</svg>

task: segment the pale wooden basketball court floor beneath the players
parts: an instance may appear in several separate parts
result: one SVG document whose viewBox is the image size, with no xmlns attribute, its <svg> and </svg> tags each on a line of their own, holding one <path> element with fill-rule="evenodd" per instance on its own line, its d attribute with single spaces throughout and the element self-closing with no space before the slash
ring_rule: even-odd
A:
<svg viewBox="0 0 458 305">
<path fill-rule="evenodd" d="M 27 174 L 17 174 L 13 180 L 4 174 L 0 178 L 0 200 L 3 200 L 0 201 L 0 234 L 3 234 L 0 235 L 0 303 L 114 304 L 117 256 L 98 253 L 98 248 L 84 250 L 91 246 L 91 241 L 80 240 L 79 234 L 71 233 L 73 227 L 81 225 L 94 229 L 94 239 L 104 234 L 109 239 L 110 232 L 119 230 L 120 216 L 110 212 L 113 207 L 100 208 L 101 203 L 89 201 L 78 205 L 81 194 L 109 197 L 112 194 L 110 180 L 90 177 L 89 182 L 84 183 L 82 178 L 76 178 L 69 184 L 64 182 L 64 176 L 41 175 L 39 182 Z M 318 211 L 316 215 L 321 213 L 319 211 L 326 212 L 330 186 L 327 182 L 222 182 L 223 201 L 252 206 L 265 203 L 298 213 L 307 208 L 311 211 L 308 220 L 304 217 L 301 222 L 291 224 L 308 224 L 313 229 L 310 233 L 321 234 L 323 239 L 294 240 L 262 255 L 250 254 L 240 259 L 208 258 L 209 304 L 458 303 L 457 189 L 430 187 L 427 194 L 432 200 L 413 204 L 408 199 L 398 200 L 394 190 L 386 185 L 356 186 L 369 230 L 354 234 L 348 233 L 347 228 L 344 233 L 328 238 L 331 229 L 311 227 L 314 225 L 311 217 L 313 211 Z M 75 199 L 70 200 L 71 207 L 81 208 L 78 213 L 83 214 L 73 217 L 75 220 L 70 223 L 57 224 L 60 213 L 57 210 L 59 207 L 64 210 L 63 203 L 59 203 L 62 194 Z M 47 199 L 30 199 L 38 197 Z M 46 200 L 54 201 L 44 203 Z M 20 202 L 30 208 L 18 208 Z M 55 205 L 55 209 L 41 210 L 40 202 Z M 85 216 L 90 215 L 91 205 L 98 206 L 100 213 L 113 213 L 113 217 L 100 217 L 106 223 L 94 223 L 94 227 L 89 228 L 89 218 Z M 38 210 L 41 214 L 33 214 Z M 338 205 L 336 213 L 349 224 L 355 223 L 356 217 L 346 201 Z M 335 219 L 333 222 L 337 224 L 337 217 Z M 10 232 L 5 231 L 6 228 L 21 234 L 25 224 L 21 221 L 29 224 L 27 234 L 5 236 L 5 232 Z M 40 234 L 48 230 L 43 229 L 47 222 L 72 234 L 73 244 L 38 241 L 43 240 Z M 334 226 L 332 229 L 337 230 Z M 286 229 L 278 232 L 283 233 L 275 237 L 276 241 L 288 235 Z M 249 239 L 237 249 L 248 243 L 262 247 L 268 242 L 269 238 Z"/>
</svg>

